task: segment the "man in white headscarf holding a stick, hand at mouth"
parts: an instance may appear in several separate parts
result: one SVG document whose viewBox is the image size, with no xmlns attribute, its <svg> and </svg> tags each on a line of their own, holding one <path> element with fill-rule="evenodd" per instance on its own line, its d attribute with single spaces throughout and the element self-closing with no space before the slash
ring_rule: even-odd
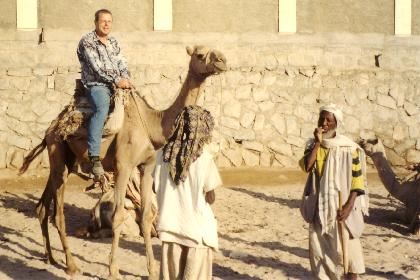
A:
<svg viewBox="0 0 420 280">
<path fill-rule="evenodd" d="M 365 272 L 359 240 L 362 214 L 367 215 L 365 154 L 337 132 L 343 114 L 336 105 L 323 106 L 319 112 L 314 138 L 301 161 L 308 181 L 313 182 L 307 183 L 305 196 L 313 195 L 315 201 L 313 212 L 305 218 L 310 223 L 311 270 L 317 279 L 341 279 L 344 267 L 346 279 L 357 279 Z"/>
</svg>

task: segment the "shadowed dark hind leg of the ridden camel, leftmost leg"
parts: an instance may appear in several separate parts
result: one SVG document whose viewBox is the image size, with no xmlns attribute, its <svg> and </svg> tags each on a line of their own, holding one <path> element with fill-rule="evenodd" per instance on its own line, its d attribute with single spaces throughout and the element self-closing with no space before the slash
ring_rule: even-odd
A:
<svg viewBox="0 0 420 280">
<path fill-rule="evenodd" d="M 39 199 L 38 204 L 36 205 L 36 213 L 38 215 L 39 223 L 41 224 L 46 262 L 56 265 L 57 262 L 54 260 L 54 257 L 52 255 L 50 237 L 48 234 L 48 213 L 53 194 L 51 185 L 52 183 L 50 176 L 50 178 L 48 178 L 47 186 L 45 187 L 44 192 L 42 193 L 42 196 Z"/>
</svg>

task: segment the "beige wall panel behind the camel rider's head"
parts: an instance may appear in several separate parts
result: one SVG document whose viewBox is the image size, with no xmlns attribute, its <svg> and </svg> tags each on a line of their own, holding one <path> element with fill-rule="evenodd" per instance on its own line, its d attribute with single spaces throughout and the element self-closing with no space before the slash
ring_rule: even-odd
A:
<svg viewBox="0 0 420 280">
<path fill-rule="evenodd" d="M 48 29 L 92 28 L 95 11 L 106 8 L 114 15 L 114 30 L 153 30 L 153 0 L 39 0 L 39 3 L 40 26 Z"/>
</svg>

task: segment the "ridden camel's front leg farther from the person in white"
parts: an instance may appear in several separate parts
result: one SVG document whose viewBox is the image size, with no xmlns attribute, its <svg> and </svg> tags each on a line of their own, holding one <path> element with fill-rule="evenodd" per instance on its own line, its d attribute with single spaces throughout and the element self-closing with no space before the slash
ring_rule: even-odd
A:
<svg viewBox="0 0 420 280">
<path fill-rule="evenodd" d="M 124 222 L 124 199 L 128 180 L 130 179 L 133 167 L 129 164 L 122 164 L 117 160 L 117 177 L 114 190 L 115 213 L 112 220 L 112 247 L 109 255 L 109 275 L 111 279 L 120 278 L 116 252 L 118 249 L 122 225 Z"/>
</svg>

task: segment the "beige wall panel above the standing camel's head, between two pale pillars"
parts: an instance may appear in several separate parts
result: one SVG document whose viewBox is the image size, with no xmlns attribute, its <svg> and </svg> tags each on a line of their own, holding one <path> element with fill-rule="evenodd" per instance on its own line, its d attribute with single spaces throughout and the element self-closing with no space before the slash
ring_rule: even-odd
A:
<svg viewBox="0 0 420 280">
<path fill-rule="evenodd" d="M 278 31 L 278 0 L 174 0 L 173 30 Z"/>
</svg>

